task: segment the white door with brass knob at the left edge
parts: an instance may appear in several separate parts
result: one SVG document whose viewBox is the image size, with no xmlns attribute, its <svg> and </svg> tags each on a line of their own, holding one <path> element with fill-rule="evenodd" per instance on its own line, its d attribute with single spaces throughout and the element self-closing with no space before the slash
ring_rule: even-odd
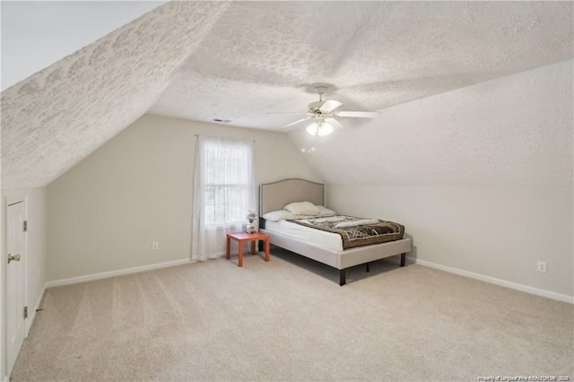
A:
<svg viewBox="0 0 574 382">
<path fill-rule="evenodd" d="M 24 318 L 25 281 L 24 281 L 24 202 L 8 205 L 6 247 L 6 326 L 8 375 L 12 372 L 14 362 L 20 352 L 26 325 Z"/>
</svg>

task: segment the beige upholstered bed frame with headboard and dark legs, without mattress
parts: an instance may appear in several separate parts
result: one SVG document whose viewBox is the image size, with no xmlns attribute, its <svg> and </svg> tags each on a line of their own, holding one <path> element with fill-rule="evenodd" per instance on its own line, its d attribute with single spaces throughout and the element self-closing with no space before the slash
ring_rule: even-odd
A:
<svg viewBox="0 0 574 382">
<path fill-rule="evenodd" d="M 308 201 L 316 205 L 325 205 L 325 185 L 305 179 L 291 178 L 259 186 L 259 216 L 271 211 L 282 210 L 286 204 Z M 346 283 L 346 269 L 355 265 L 365 264 L 369 271 L 369 263 L 381 258 L 401 255 L 401 266 L 404 257 L 411 251 L 411 239 L 400 239 L 383 244 L 366 247 L 354 247 L 344 251 L 335 251 L 320 247 L 308 241 L 293 239 L 274 231 L 265 230 L 265 219 L 260 218 L 259 227 L 262 232 L 271 237 L 274 246 L 309 257 L 339 270 L 339 285 Z"/>
</svg>

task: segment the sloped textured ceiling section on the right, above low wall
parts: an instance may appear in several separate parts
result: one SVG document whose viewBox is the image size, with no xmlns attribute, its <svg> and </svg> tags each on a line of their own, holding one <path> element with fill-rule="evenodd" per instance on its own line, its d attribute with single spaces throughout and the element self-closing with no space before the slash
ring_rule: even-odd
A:
<svg viewBox="0 0 574 382">
<path fill-rule="evenodd" d="M 290 135 L 327 183 L 572 187 L 573 72 L 569 60 Z"/>
</svg>

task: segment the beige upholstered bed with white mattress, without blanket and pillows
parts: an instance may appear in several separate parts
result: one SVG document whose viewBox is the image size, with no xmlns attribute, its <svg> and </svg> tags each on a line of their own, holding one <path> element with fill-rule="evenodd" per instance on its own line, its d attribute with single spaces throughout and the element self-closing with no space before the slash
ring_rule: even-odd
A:
<svg viewBox="0 0 574 382">
<path fill-rule="evenodd" d="M 282 210 L 283 206 L 293 202 L 309 201 L 324 205 L 325 186 L 305 179 L 285 179 L 259 187 L 259 216 L 272 211 Z M 267 225 L 269 223 L 269 225 Z M 283 247 L 301 256 L 307 256 L 320 263 L 339 270 L 339 284 L 346 282 L 346 269 L 361 264 L 369 264 L 381 258 L 401 255 L 411 251 L 411 239 L 399 239 L 383 244 L 343 249 L 341 238 L 329 232 L 298 226 L 289 221 L 265 221 L 261 218 L 261 231 L 271 237 L 271 244 Z M 298 226 L 298 227 L 293 227 Z M 303 230 L 306 229 L 306 230 Z M 310 230 L 310 231 L 308 231 Z M 332 236 L 331 236 L 332 235 Z"/>
</svg>

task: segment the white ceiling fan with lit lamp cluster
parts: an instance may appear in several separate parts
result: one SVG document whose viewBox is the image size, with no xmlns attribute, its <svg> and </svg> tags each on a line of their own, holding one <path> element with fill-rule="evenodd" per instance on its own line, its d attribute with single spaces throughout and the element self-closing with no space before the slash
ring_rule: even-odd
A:
<svg viewBox="0 0 574 382">
<path fill-rule="evenodd" d="M 309 119 L 314 119 L 313 123 L 307 126 L 307 132 L 310 135 L 325 136 L 333 133 L 336 128 L 344 127 L 336 117 L 357 117 L 357 118 L 373 118 L 378 117 L 380 113 L 378 111 L 337 111 L 342 102 L 338 100 L 323 100 L 323 94 L 327 90 L 326 86 L 316 86 L 315 91 L 319 95 L 319 100 L 316 102 L 309 103 L 309 109 L 305 113 L 267 113 L 267 114 L 291 114 L 291 115 L 303 115 L 302 117 L 294 122 L 287 125 L 281 126 L 280 128 L 290 127 L 301 122 L 308 121 Z"/>
</svg>

